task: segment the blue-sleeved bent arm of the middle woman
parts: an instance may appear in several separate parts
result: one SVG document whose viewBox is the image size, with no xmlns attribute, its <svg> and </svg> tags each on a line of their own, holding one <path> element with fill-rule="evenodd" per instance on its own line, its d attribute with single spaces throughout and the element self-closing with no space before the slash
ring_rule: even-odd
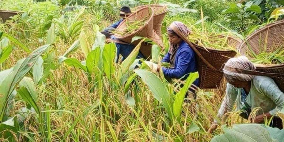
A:
<svg viewBox="0 0 284 142">
<path fill-rule="evenodd" d="M 178 63 L 176 68 L 162 68 L 164 75 L 170 78 L 181 78 L 185 75 L 185 71 L 193 59 L 193 52 L 190 50 L 183 49 L 178 55 Z"/>
</svg>

